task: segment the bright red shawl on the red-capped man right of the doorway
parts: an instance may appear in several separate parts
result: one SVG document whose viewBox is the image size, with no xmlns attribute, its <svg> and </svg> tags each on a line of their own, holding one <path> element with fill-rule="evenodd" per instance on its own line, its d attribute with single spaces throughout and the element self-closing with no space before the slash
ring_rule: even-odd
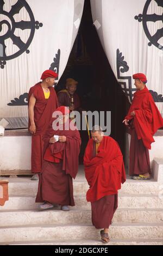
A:
<svg viewBox="0 0 163 256">
<path fill-rule="evenodd" d="M 130 115 L 132 111 L 135 111 L 134 117 Z M 151 149 L 151 143 L 154 142 L 153 135 L 163 127 L 163 119 L 146 86 L 143 90 L 134 93 L 133 102 L 125 119 L 133 119 L 137 138 L 142 139 L 145 147 Z"/>
</svg>

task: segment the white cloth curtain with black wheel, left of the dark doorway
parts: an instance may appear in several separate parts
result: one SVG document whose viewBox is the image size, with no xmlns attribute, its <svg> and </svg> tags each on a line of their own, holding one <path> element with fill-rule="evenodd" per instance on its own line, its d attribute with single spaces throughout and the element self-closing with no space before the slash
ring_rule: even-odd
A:
<svg viewBox="0 0 163 256">
<path fill-rule="evenodd" d="M 84 0 L 0 0 L 0 119 L 12 127 L 23 126 L 27 93 L 42 72 L 64 72 L 83 7 Z"/>
</svg>

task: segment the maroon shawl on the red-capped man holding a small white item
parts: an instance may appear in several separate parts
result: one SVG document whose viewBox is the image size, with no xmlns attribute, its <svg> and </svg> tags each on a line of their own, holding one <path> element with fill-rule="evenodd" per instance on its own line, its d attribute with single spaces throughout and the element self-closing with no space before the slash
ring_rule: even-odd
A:
<svg viewBox="0 0 163 256">
<path fill-rule="evenodd" d="M 72 125 L 72 121 L 68 120 L 68 126 Z M 67 127 L 66 127 L 67 129 Z M 66 142 L 55 142 L 54 144 L 49 144 L 49 139 L 54 136 L 66 136 Z M 63 161 L 62 161 L 62 170 L 65 170 L 66 174 L 70 174 L 72 178 L 76 178 L 78 172 L 79 164 L 79 153 L 80 153 L 80 134 L 77 130 L 57 130 L 54 131 L 52 124 L 48 127 L 48 130 L 43 136 L 43 141 L 45 142 L 44 151 L 47 147 L 51 150 L 52 155 L 56 156 L 58 153 L 63 151 Z"/>
</svg>

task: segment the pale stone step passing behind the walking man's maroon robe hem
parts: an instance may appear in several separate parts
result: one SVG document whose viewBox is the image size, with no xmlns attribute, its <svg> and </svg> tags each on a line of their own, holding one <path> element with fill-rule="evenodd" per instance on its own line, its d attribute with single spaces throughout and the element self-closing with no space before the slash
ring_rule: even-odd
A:
<svg viewBox="0 0 163 256">
<path fill-rule="evenodd" d="M 163 224 L 162 209 L 117 209 L 112 223 L 160 223 Z M 46 211 L 2 211 L 0 227 L 35 224 L 91 224 L 90 210 Z"/>
</svg>

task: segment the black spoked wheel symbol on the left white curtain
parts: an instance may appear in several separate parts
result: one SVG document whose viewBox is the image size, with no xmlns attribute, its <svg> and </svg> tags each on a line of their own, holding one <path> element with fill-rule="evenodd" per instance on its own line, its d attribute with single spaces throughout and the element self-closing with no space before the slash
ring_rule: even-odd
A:
<svg viewBox="0 0 163 256">
<path fill-rule="evenodd" d="M 14 5 L 5 6 L 0 0 L 0 66 L 3 69 L 7 60 L 17 58 L 24 51 L 29 53 L 35 29 L 42 23 L 35 21 L 32 10 L 25 0 L 17 0 Z M 24 20 L 26 17 L 26 20 Z"/>
</svg>

